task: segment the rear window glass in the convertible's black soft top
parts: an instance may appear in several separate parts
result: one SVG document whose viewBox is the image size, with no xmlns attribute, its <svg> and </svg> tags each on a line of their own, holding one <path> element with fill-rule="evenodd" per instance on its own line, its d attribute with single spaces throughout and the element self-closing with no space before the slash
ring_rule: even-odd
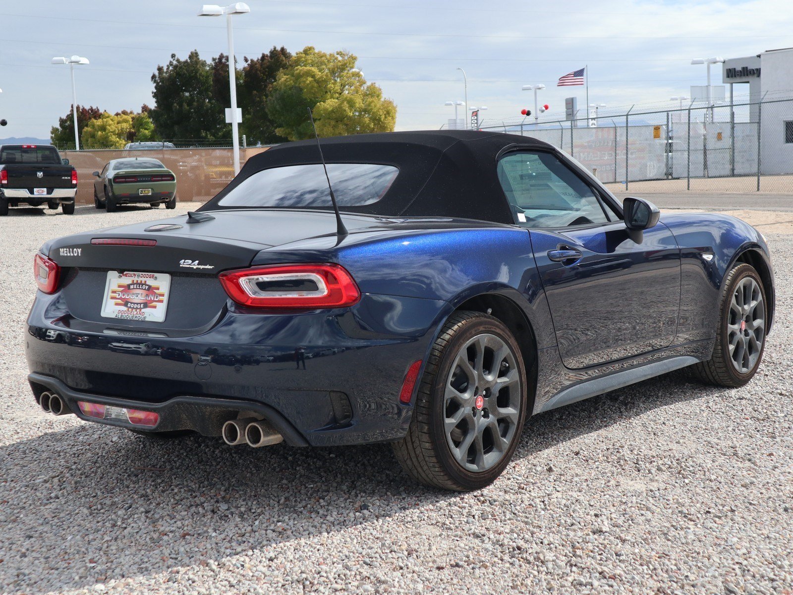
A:
<svg viewBox="0 0 793 595">
<path fill-rule="evenodd" d="M 328 163 L 333 194 L 339 208 L 379 201 L 399 170 L 374 163 Z M 321 163 L 272 167 L 257 171 L 226 191 L 219 206 L 327 207 L 328 181 Z"/>
</svg>

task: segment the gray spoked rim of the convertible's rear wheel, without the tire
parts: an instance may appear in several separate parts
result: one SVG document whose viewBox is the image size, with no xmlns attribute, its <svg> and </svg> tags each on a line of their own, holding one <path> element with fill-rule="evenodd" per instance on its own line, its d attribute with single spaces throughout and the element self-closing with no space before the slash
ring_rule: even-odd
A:
<svg viewBox="0 0 793 595">
<path fill-rule="evenodd" d="M 474 336 L 458 351 L 446 379 L 446 445 L 464 469 L 492 468 L 519 426 L 520 383 L 515 354 L 500 337 Z"/>
</svg>

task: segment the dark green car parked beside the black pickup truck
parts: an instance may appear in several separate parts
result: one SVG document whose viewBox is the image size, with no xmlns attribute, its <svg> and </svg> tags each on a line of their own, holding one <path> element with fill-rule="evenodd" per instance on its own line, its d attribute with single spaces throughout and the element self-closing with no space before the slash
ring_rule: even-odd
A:
<svg viewBox="0 0 793 595">
<path fill-rule="evenodd" d="M 144 202 L 176 208 L 176 176 L 150 157 L 113 159 L 102 171 L 94 171 L 94 206 L 115 211 L 118 205 Z"/>
</svg>

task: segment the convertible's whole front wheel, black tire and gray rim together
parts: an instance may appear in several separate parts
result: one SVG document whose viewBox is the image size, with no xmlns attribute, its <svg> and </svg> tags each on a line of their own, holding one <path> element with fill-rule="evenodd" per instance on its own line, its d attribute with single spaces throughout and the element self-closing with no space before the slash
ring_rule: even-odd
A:
<svg viewBox="0 0 793 595">
<path fill-rule="evenodd" d="M 715 386 L 743 386 L 760 367 L 765 347 L 768 310 L 760 275 L 737 263 L 726 274 L 718 309 L 713 355 L 691 366 L 701 381 Z"/>
</svg>

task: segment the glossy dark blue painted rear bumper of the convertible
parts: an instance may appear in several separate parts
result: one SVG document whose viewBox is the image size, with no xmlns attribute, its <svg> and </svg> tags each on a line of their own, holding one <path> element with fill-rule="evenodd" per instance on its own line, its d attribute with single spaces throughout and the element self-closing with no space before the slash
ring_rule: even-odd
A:
<svg viewBox="0 0 793 595">
<path fill-rule="evenodd" d="M 402 382 L 448 307 L 378 295 L 343 310 L 267 315 L 230 307 L 212 328 L 167 336 L 120 331 L 112 320 L 79 328 L 58 294 L 39 293 L 25 347 L 30 372 L 59 382 L 56 392 L 66 387 L 86 395 L 80 400 L 117 399 L 143 410 L 181 408 L 187 399 L 197 432 L 219 435 L 216 420 L 262 405 L 312 446 L 384 442 L 407 432 L 412 408 L 399 401 Z M 215 420 L 211 428 L 195 421 L 201 411 Z"/>
</svg>

